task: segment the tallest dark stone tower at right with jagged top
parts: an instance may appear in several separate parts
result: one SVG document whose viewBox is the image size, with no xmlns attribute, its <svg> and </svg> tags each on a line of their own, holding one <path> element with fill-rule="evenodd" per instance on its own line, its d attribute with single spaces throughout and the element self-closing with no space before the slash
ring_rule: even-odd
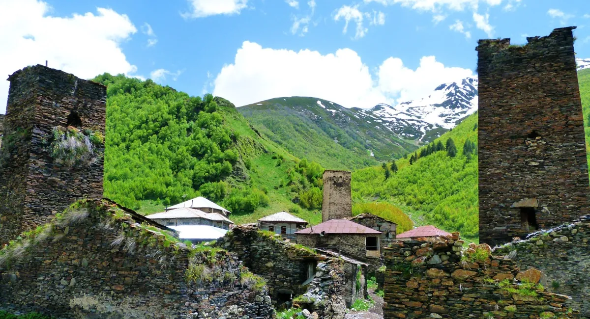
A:
<svg viewBox="0 0 590 319">
<path fill-rule="evenodd" d="M 478 42 L 480 242 L 501 244 L 590 212 L 572 29 Z"/>
</svg>

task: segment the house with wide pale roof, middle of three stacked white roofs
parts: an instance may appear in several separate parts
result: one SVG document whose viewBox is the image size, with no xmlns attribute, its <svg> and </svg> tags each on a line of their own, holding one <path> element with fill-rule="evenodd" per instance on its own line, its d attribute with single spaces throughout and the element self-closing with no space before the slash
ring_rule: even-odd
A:
<svg viewBox="0 0 590 319">
<path fill-rule="evenodd" d="M 146 217 L 165 226 L 209 225 L 229 230 L 234 225 L 234 222 L 219 212 L 204 212 L 196 208 L 176 208 Z"/>
</svg>

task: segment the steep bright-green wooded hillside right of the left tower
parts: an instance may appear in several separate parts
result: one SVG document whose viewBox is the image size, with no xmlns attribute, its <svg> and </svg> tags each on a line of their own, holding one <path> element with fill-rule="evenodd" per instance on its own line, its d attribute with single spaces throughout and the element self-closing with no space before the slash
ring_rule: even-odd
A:
<svg viewBox="0 0 590 319">
<path fill-rule="evenodd" d="M 313 194 L 323 168 L 254 131 L 229 101 L 123 75 L 94 81 L 108 86 L 107 197 L 150 213 L 203 195 L 238 223 L 282 210 L 320 222 Z"/>
</svg>

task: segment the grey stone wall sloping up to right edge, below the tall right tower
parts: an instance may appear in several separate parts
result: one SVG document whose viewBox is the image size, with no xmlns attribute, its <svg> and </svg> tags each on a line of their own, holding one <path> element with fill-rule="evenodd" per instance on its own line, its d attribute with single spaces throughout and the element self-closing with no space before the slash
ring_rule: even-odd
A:
<svg viewBox="0 0 590 319">
<path fill-rule="evenodd" d="M 494 250 L 494 255 L 507 254 L 521 269 L 542 270 L 540 282 L 549 291 L 570 295 L 572 307 L 590 318 L 590 215 Z"/>
</svg>

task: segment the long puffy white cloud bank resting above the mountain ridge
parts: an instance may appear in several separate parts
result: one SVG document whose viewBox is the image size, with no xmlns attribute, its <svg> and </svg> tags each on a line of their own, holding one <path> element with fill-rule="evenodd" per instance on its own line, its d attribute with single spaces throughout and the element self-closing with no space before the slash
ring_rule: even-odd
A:
<svg viewBox="0 0 590 319">
<path fill-rule="evenodd" d="M 213 94 L 235 105 L 290 96 L 317 97 L 346 107 L 372 107 L 424 97 L 444 82 L 472 76 L 469 69 L 448 68 L 434 57 L 423 57 L 413 70 L 401 59 L 388 58 L 371 74 L 351 49 L 322 55 L 303 49 L 263 48 L 244 42 L 232 64 L 224 65 L 214 80 Z"/>
</svg>

